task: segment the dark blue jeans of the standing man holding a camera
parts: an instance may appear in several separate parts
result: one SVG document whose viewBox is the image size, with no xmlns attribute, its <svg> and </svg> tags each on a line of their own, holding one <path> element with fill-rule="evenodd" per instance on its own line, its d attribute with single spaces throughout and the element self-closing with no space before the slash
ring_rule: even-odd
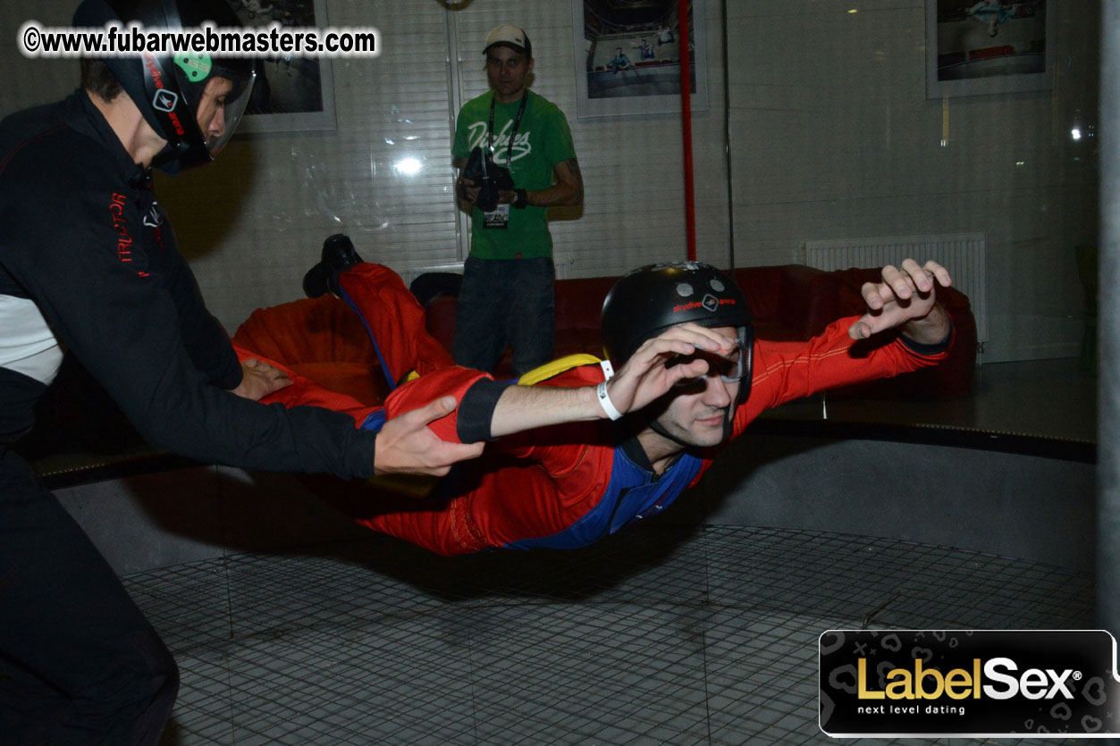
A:
<svg viewBox="0 0 1120 746">
<path fill-rule="evenodd" d="M 455 362 L 493 371 L 506 344 L 516 376 L 552 360 L 554 281 L 551 259 L 468 257 L 455 317 Z"/>
</svg>

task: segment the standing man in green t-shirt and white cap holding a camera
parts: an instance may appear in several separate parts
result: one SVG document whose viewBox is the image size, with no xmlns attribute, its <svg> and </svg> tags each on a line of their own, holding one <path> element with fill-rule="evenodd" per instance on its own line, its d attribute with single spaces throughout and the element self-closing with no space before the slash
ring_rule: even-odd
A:
<svg viewBox="0 0 1120 746">
<path fill-rule="evenodd" d="M 451 147 L 456 194 L 470 207 L 470 255 L 452 355 L 459 365 L 491 371 L 508 344 L 520 376 L 552 358 L 556 270 L 548 208 L 581 204 L 584 179 L 563 112 L 528 88 L 533 55 L 525 32 L 498 26 L 483 54 L 491 91 L 463 105 Z M 500 188 L 496 205 L 487 205 L 485 195 L 479 199 L 483 185 L 464 174 L 476 148 L 489 159 L 488 174 L 496 166 L 512 177 L 513 188 Z"/>
</svg>

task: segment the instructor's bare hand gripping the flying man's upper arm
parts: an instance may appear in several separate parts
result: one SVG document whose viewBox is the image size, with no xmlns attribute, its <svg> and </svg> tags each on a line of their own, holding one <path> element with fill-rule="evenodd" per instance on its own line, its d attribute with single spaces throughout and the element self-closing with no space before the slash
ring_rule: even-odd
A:
<svg viewBox="0 0 1120 746">
<path fill-rule="evenodd" d="M 430 422 L 455 411 L 455 397 L 441 397 L 385 422 L 377 433 L 374 474 L 444 476 L 452 464 L 480 456 L 484 444 L 449 442 L 428 429 Z"/>
</svg>

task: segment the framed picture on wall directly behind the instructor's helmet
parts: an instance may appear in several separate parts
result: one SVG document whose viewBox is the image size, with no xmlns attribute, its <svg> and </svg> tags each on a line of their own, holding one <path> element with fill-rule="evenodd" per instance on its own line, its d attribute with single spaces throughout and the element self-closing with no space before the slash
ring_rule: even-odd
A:
<svg viewBox="0 0 1120 746">
<path fill-rule="evenodd" d="M 293 28 L 327 25 L 326 0 L 226 0 L 245 26 Z M 335 129 L 335 83 L 330 60 L 287 55 L 261 60 L 253 100 L 239 132 Z"/>
</svg>

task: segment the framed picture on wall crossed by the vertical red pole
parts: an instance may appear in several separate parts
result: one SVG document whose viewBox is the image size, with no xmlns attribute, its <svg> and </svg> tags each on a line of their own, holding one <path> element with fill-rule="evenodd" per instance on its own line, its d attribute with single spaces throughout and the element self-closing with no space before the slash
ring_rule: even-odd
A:
<svg viewBox="0 0 1120 746">
<path fill-rule="evenodd" d="M 703 0 L 689 0 L 688 7 L 683 39 L 678 0 L 572 0 L 580 119 L 679 112 L 682 48 L 689 54 L 692 109 L 708 108 Z"/>
</svg>

